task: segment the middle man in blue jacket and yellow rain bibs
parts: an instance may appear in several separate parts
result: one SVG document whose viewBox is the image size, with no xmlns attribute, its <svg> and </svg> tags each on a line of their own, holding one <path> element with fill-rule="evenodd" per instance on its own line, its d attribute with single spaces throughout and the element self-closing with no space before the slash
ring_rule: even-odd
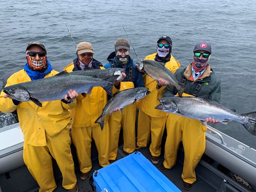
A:
<svg viewBox="0 0 256 192">
<path fill-rule="evenodd" d="M 143 78 L 136 70 L 135 63 L 130 57 L 130 44 L 125 38 L 118 38 L 115 41 L 115 51 L 108 57 L 109 63 L 104 68 L 124 68 L 126 77 L 119 84 L 120 91 L 144 87 Z M 136 103 L 125 106 L 120 111 L 110 115 L 110 163 L 116 161 L 120 129 L 123 129 L 123 151 L 131 154 L 135 151 L 135 121 Z"/>
</svg>

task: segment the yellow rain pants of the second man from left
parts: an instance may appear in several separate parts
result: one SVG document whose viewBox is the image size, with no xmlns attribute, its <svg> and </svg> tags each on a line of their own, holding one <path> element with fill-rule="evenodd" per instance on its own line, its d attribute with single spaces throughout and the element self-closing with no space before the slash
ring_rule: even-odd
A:
<svg viewBox="0 0 256 192">
<path fill-rule="evenodd" d="M 107 118 L 107 117 L 106 117 Z M 109 165 L 109 123 L 106 121 L 101 131 L 100 125 L 87 127 L 72 127 L 72 140 L 76 147 L 81 173 L 88 173 L 92 169 L 91 143 L 92 138 L 98 151 L 99 164 Z"/>
</svg>

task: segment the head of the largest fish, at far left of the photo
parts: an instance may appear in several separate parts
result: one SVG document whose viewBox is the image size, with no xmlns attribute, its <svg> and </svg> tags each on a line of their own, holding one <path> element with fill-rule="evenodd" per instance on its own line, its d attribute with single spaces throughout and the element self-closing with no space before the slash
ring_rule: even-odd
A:
<svg viewBox="0 0 256 192">
<path fill-rule="evenodd" d="M 9 95 L 9 98 L 16 99 L 18 101 L 28 101 L 30 98 L 30 94 L 26 90 L 15 86 L 6 87 L 3 91 Z"/>
</svg>

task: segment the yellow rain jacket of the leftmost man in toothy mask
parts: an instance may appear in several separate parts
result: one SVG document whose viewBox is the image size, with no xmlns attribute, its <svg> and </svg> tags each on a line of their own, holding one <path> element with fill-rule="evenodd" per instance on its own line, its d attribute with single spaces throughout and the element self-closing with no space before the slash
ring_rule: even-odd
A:
<svg viewBox="0 0 256 192">
<path fill-rule="evenodd" d="M 57 71 L 52 70 L 45 78 L 57 73 Z M 31 81 L 30 77 L 25 70 L 20 70 L 8 78 L 6 87 L 27 81 Z M 15 105 L 12 99 L 3 98 L 4 95 L 5 93 L 2 91 L 0 95 L 0 111 L 11 113 L 17 110 L 20 128 L 24 135 L 24 142 L 33 146 L 46 145 L 45 132 L 49 136 L 55 137 L 64 129 L 70 123 L 71 119 L 68 110 L 73 109 L 75 106 L 75 102 L 65 104 L 60 100 L 44 101 L 42 102 L 42 108 L 32 101 L 20 102 L 18 105 Z"/>
</svg>

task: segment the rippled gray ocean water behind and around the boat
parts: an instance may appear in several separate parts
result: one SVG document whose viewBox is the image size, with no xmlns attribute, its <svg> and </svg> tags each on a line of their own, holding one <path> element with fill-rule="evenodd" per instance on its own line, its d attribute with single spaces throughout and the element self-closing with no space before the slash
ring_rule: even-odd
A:
<svg viewBox="0 0 256 192">
<path fill-rule="evenodd" d="M 211 68 L 220 76 L 221 104 L 238 113 L 256 111 L 255 1 L 1 1 L 0 78 L 23 69 L 26 46 L 40 41 L 54 69 L 61 71 L 76 57 L 75 44 L 89 41 L 103 64 L 119 37 L 129 35 L 140 59 L 156 51 L 162 35 L 173 40 L 173 56 L 185 68 L 195 44 L 212 45 Z M 131 56 L 137 56 L 131 46 Z M 1 82 L 2 83 L 2 82 Z M 2 84 L 0 86 L 2 87 Z M 45 88 L 42 88 L 45 89 Z M 2 114 L 1 126 L 11 123 Z M 223 133 L 256 148 L 256 136 L 238 122 L 215 126 Z"/>
</svg>

